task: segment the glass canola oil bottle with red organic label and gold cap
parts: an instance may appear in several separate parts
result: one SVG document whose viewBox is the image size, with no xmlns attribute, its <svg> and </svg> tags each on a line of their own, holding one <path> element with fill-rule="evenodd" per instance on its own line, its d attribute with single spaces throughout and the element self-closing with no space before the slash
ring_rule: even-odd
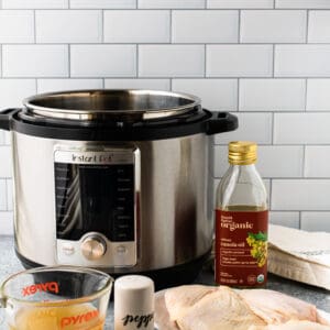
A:
<svg viewBox="0 0 330 330">
<path fill-rule="evenodd" d="M 267 193 L 256 170 L 256 144 L 229 143 L 229 169 L 216 202 L 216 283 L 262 287 L 267 280 Z"/>
</svg>

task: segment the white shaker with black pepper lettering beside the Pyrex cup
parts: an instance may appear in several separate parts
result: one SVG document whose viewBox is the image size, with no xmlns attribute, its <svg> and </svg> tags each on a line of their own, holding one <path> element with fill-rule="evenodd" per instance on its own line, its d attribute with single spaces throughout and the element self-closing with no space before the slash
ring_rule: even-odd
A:
<svg viewBox="0 0 330 330">
<path fill-rule="evenodd" d="M 154 330 L 154 283 L 141 275 L 114 282 L 114 330 Z"/>
</svg>

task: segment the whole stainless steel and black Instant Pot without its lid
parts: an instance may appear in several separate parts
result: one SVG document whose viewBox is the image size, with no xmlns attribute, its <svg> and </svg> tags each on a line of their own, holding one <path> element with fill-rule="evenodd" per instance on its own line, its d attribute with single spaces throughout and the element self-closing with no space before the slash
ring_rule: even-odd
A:
<svg viewBox="0 0 330 330">
<path fill-rule="evenodd" d="M 237 129 L 237 117 L 150 90 L 63 91 L 23 103 L 0 114 L 12 138 L 23 265 L 141 273 L 157 287 L 191 282 L 212 244 L 212 135 Z"/>
</svg>

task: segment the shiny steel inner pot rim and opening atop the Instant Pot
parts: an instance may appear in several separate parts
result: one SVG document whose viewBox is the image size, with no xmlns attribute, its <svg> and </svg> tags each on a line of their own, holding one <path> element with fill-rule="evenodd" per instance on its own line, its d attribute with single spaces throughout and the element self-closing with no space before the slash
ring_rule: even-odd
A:
<svg viewBox="0 0 330 330">
<path fill-rule="evenodd" d="M 95 89 L 58 91 L 23 101 L 31 116 L 65 120 L 150 120 L 196 110 L 197 97 L 158 90 Z"/>
</svg>

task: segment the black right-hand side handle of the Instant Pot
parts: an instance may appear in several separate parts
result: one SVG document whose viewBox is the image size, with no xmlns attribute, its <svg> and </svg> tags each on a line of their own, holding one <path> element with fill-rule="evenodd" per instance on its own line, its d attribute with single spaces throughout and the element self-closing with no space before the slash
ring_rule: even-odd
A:
<svg viewBox="0 0 330 330">
<path fill-rule="evenodd" d="M 229 112 L 212 112 L 212 117 L 206 121 L 208 135 L 234 131 L 239 127 L 238 117 Z"/>
</svg>

